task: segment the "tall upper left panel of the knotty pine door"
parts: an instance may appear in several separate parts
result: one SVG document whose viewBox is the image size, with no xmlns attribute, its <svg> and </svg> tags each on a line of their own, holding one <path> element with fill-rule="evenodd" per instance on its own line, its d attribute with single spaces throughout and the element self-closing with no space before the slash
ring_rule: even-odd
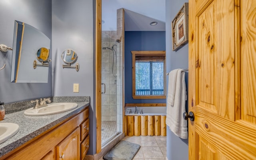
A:
<svg viewBox="0 0 256 160">
<path fill-rule="evenodd" d="M 198 16 L 198 102 L 200 106 L 217 112 L 214 93 L 216 92 L 216 80 L 214 79 L 214 4 L 210 4 L 200 16 Z"/>
</svg>

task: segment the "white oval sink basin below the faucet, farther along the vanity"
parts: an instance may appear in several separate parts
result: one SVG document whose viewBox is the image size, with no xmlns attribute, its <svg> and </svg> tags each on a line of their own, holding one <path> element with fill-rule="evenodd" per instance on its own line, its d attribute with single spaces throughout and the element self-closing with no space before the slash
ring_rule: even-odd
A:
<svg viewBox="0 0 256 160">
<path fill-rule="evenodd" d="M 78 105 L 76 103 L 50 103 L 46 107 L 34 109 L 29 108 L 25 110 L 24 114 L 28 116 L 42 116 L 49 114 L 56 114 L 61 112 L 66 112 L 76 108 Z"/>
</svg>

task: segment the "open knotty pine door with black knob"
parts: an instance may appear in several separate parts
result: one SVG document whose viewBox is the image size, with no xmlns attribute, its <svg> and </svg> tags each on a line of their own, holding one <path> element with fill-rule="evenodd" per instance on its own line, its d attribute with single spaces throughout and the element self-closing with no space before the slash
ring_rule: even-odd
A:
<svg viewBox="0 0 256 160">
<path fill-rule="evenodd" d="M 256 160 L 256 1 L 189 0 L 190 160 Z"/>
</svg>

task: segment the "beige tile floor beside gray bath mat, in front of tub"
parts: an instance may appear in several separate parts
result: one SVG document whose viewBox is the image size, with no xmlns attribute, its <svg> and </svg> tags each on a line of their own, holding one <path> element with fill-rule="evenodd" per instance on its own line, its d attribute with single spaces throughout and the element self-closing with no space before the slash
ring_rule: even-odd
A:
<svg viewBox="0 0 256 160">
<path fill-rule="evenodd" d="M 166 136 L 126 136 L 122 140 L 140 144 L 134 160 L 166 160 Z"/>
</svg>

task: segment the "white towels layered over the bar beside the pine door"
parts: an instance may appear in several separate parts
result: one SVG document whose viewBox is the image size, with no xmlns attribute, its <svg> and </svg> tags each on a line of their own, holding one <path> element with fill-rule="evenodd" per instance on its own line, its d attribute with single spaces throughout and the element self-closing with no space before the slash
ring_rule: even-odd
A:
<svg viewBox="0 0 256 160">
<path fill-rule="evenodd" d="M 173 85 L 176 77 L 176 83 Z M 175 87 L 174 103 L 172 105 L 172 92 Z M 170 90 L 170 92 L 169 92 Z M 170 94 L 170 95 L 169 95 Z M 166 125 L 170 127 L 170 130 L 179 136 L 180 138 L 188 138 L 187 121 L 183 119 L 183 113 L 186 112 L 187 93 L 185 72 L 182 69 L 173 70 L 169 74 L 168 82 L 168 96 L 167 96 L 167 108 L 166 108 Z"/>
</svg>

